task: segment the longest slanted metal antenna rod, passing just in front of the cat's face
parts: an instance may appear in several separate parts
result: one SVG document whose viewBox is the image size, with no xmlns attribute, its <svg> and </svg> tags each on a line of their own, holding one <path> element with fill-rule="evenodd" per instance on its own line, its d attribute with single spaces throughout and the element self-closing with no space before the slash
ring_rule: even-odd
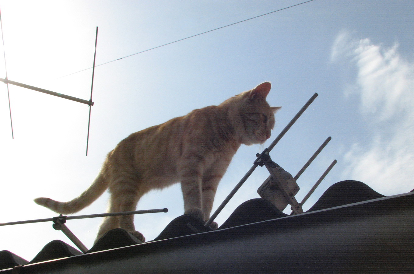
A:
<svg viewBox="0 0 414 274">
<path fill-rule="evenodd" d="M 318 94 L 315 92 L 312 97 L 305 103 L 305 105 L 299 110 L 298 113 L 296 113 L 295 117 L 289 122 L 288 125 L 282 130 L 282 132 L 279 133 L 279 135 L 274 139 L 272 144 L 267 148 L 267 151 L 270 151 L 277 142 L 279 142 L 280 139 L 282 139 L 283 135 L 291 128 L 291 126 L 298 120 L 298 118 L 302 115 L 302 113 L 308 108 L 308 106 L 315 100 L 315 98 L 318 96 Z M 257 160 L 255 161 L 255 164 L 249 169 L 249 171 L 246 173 L 246 175 L 243 176 L 243 178 L 240 180 L 240 182 L 231 190 L 229 195 L 227 195 L 226 199 L 220 204 L 220 206 L 216 209 L 216 211 L 213 213 L 213 215 L 208 219 L 208 221 L 205 223 L 205 227 L 208 227 L 214 219 L 216 219 L 217 215 L 221 212 L 221 210 L 226 206 L 226 204 L 230 201 L 230 199 L 236 194 L 237 190 L 243 185 L 244 182 L 246 182 L 247 178 L 253 173 L 253 171 L 257 168 Z"/>
</svg>

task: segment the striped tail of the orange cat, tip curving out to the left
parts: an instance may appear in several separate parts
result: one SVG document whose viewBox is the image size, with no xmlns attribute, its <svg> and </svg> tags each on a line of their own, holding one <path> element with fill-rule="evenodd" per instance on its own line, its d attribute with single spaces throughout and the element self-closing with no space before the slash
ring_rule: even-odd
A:
<svg viewBox="0 0 414 274">
<path fill-rule="evenodd" d="M 36 198 L 34 202 L 59 214 L 73 214 L 89 206 L 108 188 L 108 180 L 100 173 L 92 185 L 81 195 L 69 202 L 58 202 L 50 198 Z"/>
</svg>

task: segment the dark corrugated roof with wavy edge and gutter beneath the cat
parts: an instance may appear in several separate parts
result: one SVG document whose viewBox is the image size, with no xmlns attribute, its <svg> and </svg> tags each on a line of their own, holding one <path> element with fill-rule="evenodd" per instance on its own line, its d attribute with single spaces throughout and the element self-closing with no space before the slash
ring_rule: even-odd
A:
<svg viewBox="0 0 414 274">
<path fill-rule="evenodd" d="M 4 250 L 0 267 L 14 269 L 0 273 L 414 273 L 413 214 L 414 192 L 343 181 L 304 214 L 252 199 L 216 231 L 183 215 L 143 244 L 116 229 L 86 254 L 59 240 L 31 262 Z"/>
</svg>

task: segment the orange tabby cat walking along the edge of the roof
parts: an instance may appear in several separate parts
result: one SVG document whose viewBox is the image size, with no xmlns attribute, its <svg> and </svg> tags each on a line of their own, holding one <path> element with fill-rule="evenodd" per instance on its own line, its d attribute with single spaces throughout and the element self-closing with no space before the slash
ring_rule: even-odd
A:
<svg viewBox="0 0 414 274">
<path fill-rule="evenodd" d="M 103 163 L 92 185 L 69 202 L 36 198 L 37 204 L 59 214 L 73 214 L 89 206 L 109 189 L 108 212 L 133 211 L 139 199 L 153 189 L 181 182 L 184 214 L 207 221 L 219 181 L 241 144 L 262 144 L 274 127 L 274 113 L 266 101 L 271 84 L 264 82 L 218 106 L 195 109 L 132 133 L 123 139 Z M 113 228 L 135 231 L 134 215 L 105 217 L 96 240 Z M 216 223 L 212 223 L 217 228 Z"/>
</svg>

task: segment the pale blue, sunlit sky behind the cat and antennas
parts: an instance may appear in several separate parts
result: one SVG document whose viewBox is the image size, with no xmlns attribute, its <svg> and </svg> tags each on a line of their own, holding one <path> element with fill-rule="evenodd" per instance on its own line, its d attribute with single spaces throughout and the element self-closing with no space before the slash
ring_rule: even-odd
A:
<svg viewBox="0 0 414 274">
<path fill-rule="evenodd" d="M 8 79 L 15 82 L 89 100 L 88 68 L 99 27 L 88 156 L 87 105 L 9 85 L 12 139 L 7 85 L 0 83 L 0 222 L 56 216 L 33 199 L 77 197 L 99 173 L 106 154 L 132 132 L 217 105 L 265 81 L 272 83 L 267 101 L 282 106 L 272 137 L 262 146 L 239 149 L 213 210 L 253 165 L 255 154 L 315 92 L 319 96 L 270 153 L 296 175 L 332 137 L 297 181 L 301 201 L 338 161 L 304 209 L 342 180 L 360 180 L 387 196 L 411 191 L 413 1 L 313 0 L 132 55 L 300 2 L 0 1 L 7 65 L 0 58 L 0 77 L 7 67 Z M 265 168 L 256 168 L 215 221 L 223 224 L 238 205 L 258 198 L 267 176 Z M 75 215 L 103 213 L 107 200 L 105 193 Z M 183 214 L 179 184 L 149 192 L 137 209 L 165 207 L 168 213 L 135 216 L 147 240 Z M 91 248 L 100 223 L 94 218 L 66 225 Z M 73 246 L 51 222 L 1 226 L 0 235 L 0 250 L 29 261 L 52 240 Z"/>
</svg>

